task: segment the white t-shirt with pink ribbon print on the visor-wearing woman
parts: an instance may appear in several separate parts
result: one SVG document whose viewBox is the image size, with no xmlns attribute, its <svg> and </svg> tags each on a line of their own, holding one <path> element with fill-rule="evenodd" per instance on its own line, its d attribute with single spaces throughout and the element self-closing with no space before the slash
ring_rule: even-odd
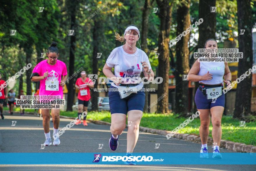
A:
<svg viewBox="0 0 256 171">
<path fill-rule="evenodd" d="M 148 64 L 149 69 L 151 69 L 150 62 L 148 60 L 147 54 L 136 47 L 136 52 L 134 54 L 128 54 L 124 51 L 123 46 L 116 47 L 112 50 L 109 55 L 106 64 L 113 68 L 116 77 L 123 77 L 121 84 L 138 84 L 137 89 L 143 87 L 143 82 L 140 82 L 141 72 L 144 71 L 141 62 L 145 61 Z M 139 80 L 139 81 L 138 81 Z M 111 84 L 113 87 L 120 88 L 122 86 L 117 86 L 114 83 Z"/>
</svg>

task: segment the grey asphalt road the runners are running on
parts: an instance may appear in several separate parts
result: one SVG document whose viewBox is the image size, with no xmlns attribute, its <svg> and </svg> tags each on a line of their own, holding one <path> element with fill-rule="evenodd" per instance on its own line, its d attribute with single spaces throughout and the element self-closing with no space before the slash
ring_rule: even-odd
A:
<svg viewBox="0 0 256 171">
<path fill-rule="evenodd" d="M 16 121 L 15 126 L 12 121 Z M 72 119 L 61 119 L 60 128 L 65 127 Z M 51 136 L 53 124 L 50 122 Z M 119 138 L 117 153 L 126 152 L 127 129 Z M 88 123 L 88 126 L 74 125 L 60 137 L 61 144 L 40 149 L 45 141 L 42 118 L 33 115 L 19 116 L 5 114 L 0 120 L 1 153 L 113 153 L 108 142 L 111 136 L 109 126 Z M 53 138 L 52 138 L 53 140 Z M 155 149 L 155 143 L 160 147 Z M 98 149 L 103 144 L 102 149 Z M 165 136 L 140 133 L 134 153 L 199 153 L 201 144 L 166 139 Z M 208 147 L 209 148 L 209 147 Z M 211 152 L 211 149 L 209 150 Z M 221 153 L 230 153 L 221 149 Z M 0 158 L 1 160 L 1 158 Z M 40 158 L 35 158 L 40 160 Z M 81 161 L 86 158 L 81 158 Z M 90 159 L 91 160 L 91 159 Z M 218 162 L 218 161 L 216 161 Z M 0 170 L 256 170 L 256 165 L 0 165 Z"/>
</svg>

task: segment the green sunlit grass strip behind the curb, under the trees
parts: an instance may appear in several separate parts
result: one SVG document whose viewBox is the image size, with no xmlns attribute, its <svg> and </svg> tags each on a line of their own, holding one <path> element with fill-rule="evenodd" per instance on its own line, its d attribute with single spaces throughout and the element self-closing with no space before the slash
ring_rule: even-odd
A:
<svg viewBox="0 0 256 171">
<path fill-rule="evenodd" d="M 77 117 L 77 112 L 61 112 L 61 115 Z M 111 122 L 110 112 L 89 112 L 88 119 L 101 120 Z M 151 114 L 144 113 L 140 126 L 147 128 L 161 129 L 172 131 L 179 124 L 183 123 L 187 118 L 176 118 L 173 114 Z M 230 116 L 222 117 L 222 140 L 230 140 L 244 144 L 256 145 L 256 122 L 248 122 L 244 127 L 239 127 L 239 120 Z M 200 119 L 196 118 L 183 129 L 179 129 L 178 133 L 199 135 Z M 210 136 L 212 125 L 209 127 Z"/>
</svg>

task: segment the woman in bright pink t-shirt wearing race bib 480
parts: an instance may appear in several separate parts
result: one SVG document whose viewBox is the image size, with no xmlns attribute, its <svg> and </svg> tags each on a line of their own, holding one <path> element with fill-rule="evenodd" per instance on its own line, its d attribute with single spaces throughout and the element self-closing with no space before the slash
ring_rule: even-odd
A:
<svg viewBox="0 0 256 171">
<path fill-rule="evenodd" d="M 63 90 L 65 81 L 67 80 L 67 67 L 64 62 L 57 60 L 58 47 L 57 43 L 51 43 L 48 48 L 48 59 L 39 62 L 32 71 L 31 80 L 40 81 L 39 95 L 47 96 L 61 96 L 63 97 Z M 50 109 L 42 109 L 43 127 L 45 131 L 45 145 L 51 145 L 50 135 Z M 60 109 L 51 109 L 51 116 L 53 120 L 53 144 L 59 145 L 61 142 L 58 136 L 58 129 L 60 124 Z"/>
</svg>

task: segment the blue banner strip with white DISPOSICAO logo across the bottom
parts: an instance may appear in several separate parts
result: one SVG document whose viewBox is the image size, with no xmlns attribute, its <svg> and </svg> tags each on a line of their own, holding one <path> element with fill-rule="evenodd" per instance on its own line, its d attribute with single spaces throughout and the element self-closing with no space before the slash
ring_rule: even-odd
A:
<svg viewBox="0 0 256 171">
<path fill-rule="evenodd" d="M 0 164 L 124 164 L 136 165 L 256 165 L 255 153 L 221 153 L 222 159 L 200 153 L 0 153 Z"/>
</svg>

